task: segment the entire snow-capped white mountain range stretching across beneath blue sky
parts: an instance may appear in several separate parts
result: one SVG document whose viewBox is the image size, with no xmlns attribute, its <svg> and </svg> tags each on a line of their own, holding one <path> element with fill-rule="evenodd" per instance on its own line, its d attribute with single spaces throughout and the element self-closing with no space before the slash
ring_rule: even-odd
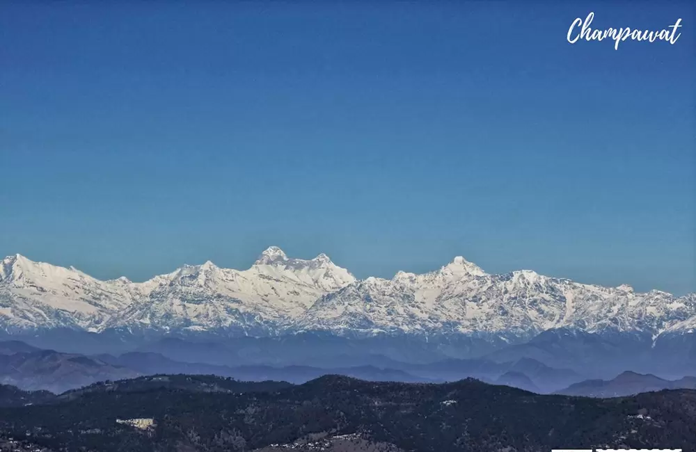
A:
<svg viewBox="0 0 696 452">
<path fill-rule="evenodd" d="M 530 337 L 553 328 L 586 332 L 692 332 L 696 294 L 635 293 L 546 277 L 489 275 L 463 257 L 437 271 L 357 280 L 322 254 L 291 259 L 265 250 L 244 271 L 206 262 L 145 282 L 100 281 L 76 268 L 21 255 L 0 264 L 0 330 L 71 328 L 132 333 L 276 335 L 498 334 Z"/>
</svg>

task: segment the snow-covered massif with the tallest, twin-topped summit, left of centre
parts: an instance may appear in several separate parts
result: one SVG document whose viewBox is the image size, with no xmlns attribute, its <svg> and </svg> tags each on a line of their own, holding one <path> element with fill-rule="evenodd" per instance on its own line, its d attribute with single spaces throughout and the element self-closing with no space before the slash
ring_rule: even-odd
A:
<svg viewBox="0 0 696 452">
<path fill-rule="evenodd" d="M 265 332 L 354 281 L 324 254 L 294 259 L 271 246 L 244 271 L 207 261 L 132 284 L 129 291 L 143 302 L 113 316 L 105 328 Z"/>
</svg>

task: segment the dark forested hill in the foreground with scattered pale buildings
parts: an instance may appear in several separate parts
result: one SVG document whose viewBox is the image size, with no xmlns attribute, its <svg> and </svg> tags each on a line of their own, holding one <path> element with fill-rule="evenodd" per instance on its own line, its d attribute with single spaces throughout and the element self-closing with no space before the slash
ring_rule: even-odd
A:
<svg viewBox="0 0 696 452">
<path fill-rule="evenodd" d="M 477 380 L 433 385 L 340 376 L 268 389 L 85 391 L 68 401 L 2 408 L 0 430 L 17 439 L 31 433 L 33 443 L 51 449 L 104 452 L 271 450 L 309 434 L 356 433 L 369 444 L 424 452 L 693 451 L 696 444 L 696 392 L 689 390 L 602 400 Z"/>
</svg>

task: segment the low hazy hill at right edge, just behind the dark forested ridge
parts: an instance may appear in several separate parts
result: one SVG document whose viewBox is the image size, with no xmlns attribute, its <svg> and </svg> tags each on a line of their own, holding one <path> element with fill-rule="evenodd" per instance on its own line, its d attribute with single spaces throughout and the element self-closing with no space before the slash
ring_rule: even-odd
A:
<svg viewBox="0 0 696 452">
<path fill-rule="evenodd" d="M 663 389 L 696 389 L 696 377 L 665 380 L 650 374 L 626 371 L 612 380 L 585 380 L 561 389 L 556 394 L 587 397 L 631 396 Z"/>
</svg>

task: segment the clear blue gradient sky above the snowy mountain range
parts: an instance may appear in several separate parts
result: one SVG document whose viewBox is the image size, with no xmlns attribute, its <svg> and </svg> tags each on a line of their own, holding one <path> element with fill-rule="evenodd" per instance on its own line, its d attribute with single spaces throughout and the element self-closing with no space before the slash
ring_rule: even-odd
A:
<svg viewBox="0 0 696 452">
<path fill-rule="evenodd" d="M 0 4 L 0 255 L 696 290 L 689 3 L 86 3 Z"/>
</svg>

